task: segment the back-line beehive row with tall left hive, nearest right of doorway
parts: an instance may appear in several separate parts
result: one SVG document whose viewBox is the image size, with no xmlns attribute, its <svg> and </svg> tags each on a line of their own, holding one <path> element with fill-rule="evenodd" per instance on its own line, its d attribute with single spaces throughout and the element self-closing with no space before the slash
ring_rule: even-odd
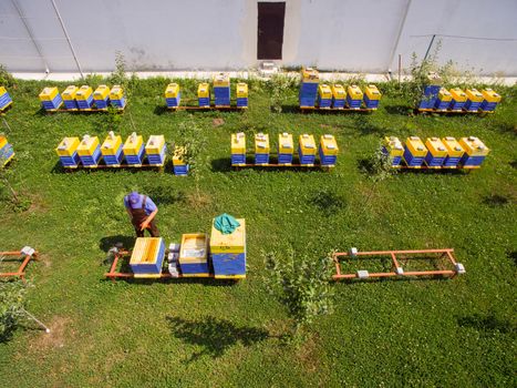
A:
<svg viewBox="0 0 517 388">
<path fill-rule="evenodd" d="M 365 109 L 374 110 L 379 106 L 381 92 L 375 85 L 368 85 L 364 93 L 358 85 L 320 84 L 320 76 L 316 69 L 307 68 L 301 71 L 299 101 L 301 108 L 320 109 Z"/>
</svg>

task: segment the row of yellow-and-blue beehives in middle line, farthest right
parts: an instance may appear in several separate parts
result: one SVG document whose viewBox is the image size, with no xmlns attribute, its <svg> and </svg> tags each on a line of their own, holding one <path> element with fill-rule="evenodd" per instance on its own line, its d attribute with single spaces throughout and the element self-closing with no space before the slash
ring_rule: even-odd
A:
<svg viewBox="0 0 517 388">
<path fill-rule="evenodd" d="M 421 169 L 477 169 L 488 155 L 488 147 L 477 137 L 427 137 L 425 143 L 418 136 L 410 136 L 403 144 L 399 137 L 384 139 L 384 154 L 394 167 L 403 162 L 407 167 Z"/>
</svg>

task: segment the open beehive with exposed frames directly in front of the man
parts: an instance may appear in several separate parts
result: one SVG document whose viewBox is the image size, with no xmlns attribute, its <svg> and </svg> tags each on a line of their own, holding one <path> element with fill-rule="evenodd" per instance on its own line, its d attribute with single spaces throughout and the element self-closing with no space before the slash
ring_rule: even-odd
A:
<svg viewBox="0 0 517 388">
<path fill-rule="evenodd" d="M 165 242 L 162 237 L 138 237 L 131 254 L 130 267 L 135 277 L 159 277 L 164 258 Z"/>
</svg>

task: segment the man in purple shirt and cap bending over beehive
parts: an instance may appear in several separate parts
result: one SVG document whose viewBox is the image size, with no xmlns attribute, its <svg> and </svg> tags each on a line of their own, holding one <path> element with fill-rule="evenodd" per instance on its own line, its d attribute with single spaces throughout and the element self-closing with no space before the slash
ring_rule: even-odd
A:
<svg viewBox="0 0 517 388">
<path fill-rule="evenodd" d="M 154 217 L 158 208 L 146 195 L 133 192 L 124 197 L 124 206 L 130 215 L 131 223 L 135 227 L 136 237 L 144 237 L 144 231 L 149 231 L 152 237 L 159 237 Z"/>
</svg>

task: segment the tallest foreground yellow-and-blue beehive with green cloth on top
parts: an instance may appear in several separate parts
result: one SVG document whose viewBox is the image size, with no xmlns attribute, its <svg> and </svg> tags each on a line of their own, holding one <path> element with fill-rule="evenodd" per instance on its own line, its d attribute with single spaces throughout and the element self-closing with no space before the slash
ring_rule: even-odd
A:
<svg viewBox="0 0 517 388">
<path fill-rule="evenodd" d="M 246 221 L 232 233 L 223 234 L 214 225 L 210 234 L 210 255 L 214 277 L 219 279 L 240 279 L 246 277 Z"/>
</svg>

